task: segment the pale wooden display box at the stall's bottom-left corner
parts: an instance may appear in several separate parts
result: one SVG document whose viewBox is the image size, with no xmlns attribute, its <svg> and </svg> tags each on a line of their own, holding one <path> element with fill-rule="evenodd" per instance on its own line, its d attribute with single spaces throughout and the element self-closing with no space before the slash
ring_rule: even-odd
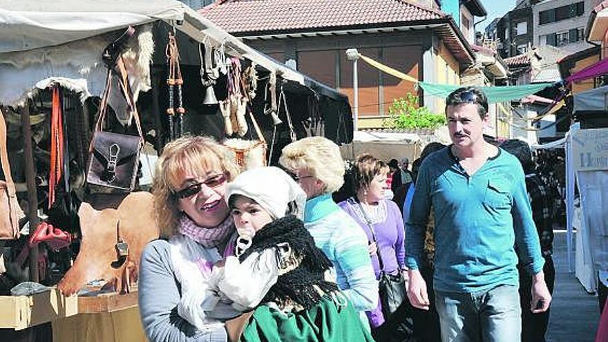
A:
<svg viewBox="0 0 608 342">
<path fill-rule="evenodd" d="M 23 330 L 78 314 L 78 297 L 53 288 L 32 296 L 0 296 L 0 328 Z"/>
</svg>

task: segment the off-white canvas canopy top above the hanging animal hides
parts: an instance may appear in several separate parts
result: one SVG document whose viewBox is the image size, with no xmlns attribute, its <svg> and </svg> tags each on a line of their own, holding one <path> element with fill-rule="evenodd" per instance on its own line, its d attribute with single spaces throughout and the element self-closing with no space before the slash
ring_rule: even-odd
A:
<svg viewBox="0 0 608 342">
<path fill-rule="evenodd" d="M 56 46 L 126 26 L 184 19 L 173 0 L 0 0 L 0 53 Z"/>
</svg>

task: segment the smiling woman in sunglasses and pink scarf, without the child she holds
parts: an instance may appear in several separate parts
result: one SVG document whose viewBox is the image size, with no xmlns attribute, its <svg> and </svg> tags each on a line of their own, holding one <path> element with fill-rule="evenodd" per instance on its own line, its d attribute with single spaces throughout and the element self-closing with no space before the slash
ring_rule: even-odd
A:
<svg viewBox="0 0 608 342">
<path fill-rule="evenodd" d="M 146 246 L 138 282 L 150 341 L 225 342 L 225 321 L 240 315 L 211 291 L 212 267 L 236 240 L 224 195 L 238 169 L 228 155 L 211 138 L 183 137 L 158 159 L 153 194 L 166 240 Z"/>
</svg>

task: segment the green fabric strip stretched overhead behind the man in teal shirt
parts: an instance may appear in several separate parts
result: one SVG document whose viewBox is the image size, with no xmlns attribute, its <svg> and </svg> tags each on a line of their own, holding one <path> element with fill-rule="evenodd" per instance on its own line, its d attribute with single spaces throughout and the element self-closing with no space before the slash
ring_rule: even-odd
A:
<svg viewBox="0 0 608 342">
<path fill-rule="evenodd" d="M 457 88 L 462 87 L 427 82 L 418 82 L 418 84 L 424 90 L 424 95 L 438 96 L 443 97 L 444 99 Z M 544 88 L 552 85 L 552 83 L 536 83 L 526 84 L 524 86 L 480 86 L 477 88 L 481 89 L 484 94 L 486 94 L 486 97 L 488 97 L 488 102 L 506 102 L 538 93 Z"/>
</svg>

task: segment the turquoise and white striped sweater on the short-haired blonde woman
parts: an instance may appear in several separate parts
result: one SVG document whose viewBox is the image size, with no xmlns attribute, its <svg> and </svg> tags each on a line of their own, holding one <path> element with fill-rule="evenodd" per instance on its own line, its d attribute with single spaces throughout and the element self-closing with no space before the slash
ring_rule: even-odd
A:
<svg viewBox="0 0 608 342">
<path fill-rule="evenodd" d="M 338 286 L 355 309 L 361 314 L 373 310 L 378 304 L 378 283 L 361 227 L 334 203 L 331 194 L 306 202 L 304 222 L 316 247 L 332 260 Z"/>
</svg>

